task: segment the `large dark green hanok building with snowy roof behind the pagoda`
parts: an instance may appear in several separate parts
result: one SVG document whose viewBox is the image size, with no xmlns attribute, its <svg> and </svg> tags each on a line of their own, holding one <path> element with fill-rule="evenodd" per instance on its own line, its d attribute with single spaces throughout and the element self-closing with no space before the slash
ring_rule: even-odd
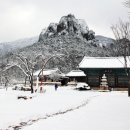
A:
<svg viewBox="0 0 130 130">
<path fill-rule="evenodd" d="M 84 57 L 79 69 L 86 74 L 91 87 L 100 87 L 101 77 L 106 75 L 111 88 L 128 88 L 130 85 L 130 57 Z"/>
</svg>

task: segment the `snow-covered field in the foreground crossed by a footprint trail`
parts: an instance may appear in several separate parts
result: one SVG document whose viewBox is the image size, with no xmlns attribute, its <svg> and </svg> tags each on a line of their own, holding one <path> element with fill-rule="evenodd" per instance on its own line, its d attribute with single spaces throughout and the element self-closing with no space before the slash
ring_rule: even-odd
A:
<svg viewBox="0 0 130 130">
<path fill-rule="evenodd" d="M 127 92 L 77 91 L 44 86 L 45 93 L 0 89 L 0 130 L 129 130 Z M 17 99 L 18 96 L 32 99 Z"/>
</svg>

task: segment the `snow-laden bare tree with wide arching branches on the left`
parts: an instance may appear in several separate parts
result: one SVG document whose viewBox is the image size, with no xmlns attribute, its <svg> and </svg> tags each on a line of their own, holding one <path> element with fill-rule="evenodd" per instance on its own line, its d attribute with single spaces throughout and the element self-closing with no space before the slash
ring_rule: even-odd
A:
<svg viewBox="0 0 130 130">
<path fill-rule="evenodd" d="M 12 67 L 18 67 L 24 74 L 25 78 L 28 77 L 29 82 L 30 82 L 30 87 L 31 87 L 31 93 L 34 93 L 34 88 L 33 88 L 33 81 L 34 81 L 34 76 L 33 73 L 36 70 L 36 65 L 38 63 L 38 59 L 40 59 L 43 62 L 42 69 L 40 73 L 42 73 L 43 69 L 45 69 L 46 64 L 53 59 L 54 57 L 60 58 L 63 56 L 62 54 L 59 55 L 52 55 L 48 57 L 44 57 L 42 54 L 37 55 L 36 57 L 32 59 L 24 57 L 22 55 L 13 55 L 12 60 L 10 61 L 9 64 L 5 66 L 3 69 L 3 72 L 6 72 L 7 70 L 11 69 Z M 39 75 L 40 75 L 39 73 Z M 38 75 L 38 77 L 39 77 Z"/>
</svg>

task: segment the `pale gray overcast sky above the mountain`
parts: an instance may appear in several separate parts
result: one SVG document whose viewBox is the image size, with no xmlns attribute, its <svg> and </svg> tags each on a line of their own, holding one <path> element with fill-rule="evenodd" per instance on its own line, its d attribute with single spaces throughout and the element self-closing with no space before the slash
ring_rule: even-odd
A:
<svg viewBox="0 0 130 130">
<path fill-rule="evenodd" d="M 110 26 L 128 20 L 124 0 L 0 0 L 0 42 L 37 36 L 69 13 L 85 19 L 96 35 L 114 37 Z"/>
</svg>

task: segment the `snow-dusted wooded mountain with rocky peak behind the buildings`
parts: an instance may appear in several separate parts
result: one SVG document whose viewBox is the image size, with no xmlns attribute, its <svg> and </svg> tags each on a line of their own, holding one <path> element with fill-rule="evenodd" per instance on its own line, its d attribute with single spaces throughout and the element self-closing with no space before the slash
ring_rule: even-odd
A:
<svg viewBox="0 0 130 130">
<path fill-rule="evenodd" d="M 71 14 L 61 17 L 59 23 L 51 23 L 46 29 L 43 29 L 39 39 L 36 37 L 34 41 L 33 39 L 29 39 L 29 41 L 24 44 L 19 41 L 11 45 L 21 47 L 15 53 L 33 60 L 38 54 L 45 57 L 64 55 L 60 60 L 52 59 L 46 65 L 46 68 L 58 67 L 64 73 L 75 70 L 84 56 L 109 57 L 113 55 L 110 45 L 114 43 L 114 40 L 95 36 L 95 32 L 89 30 L 84 20 L 79 20 Z M 6 57 L 8 58 L 8 55 Z M 41 68 L 41 62 L 35 69 Z M 10 74 L 12 75 L 12 72 Z M 18 76 L 20 76 L 20 72 L 16 74 L 16 77 Z"/>
</svg>

